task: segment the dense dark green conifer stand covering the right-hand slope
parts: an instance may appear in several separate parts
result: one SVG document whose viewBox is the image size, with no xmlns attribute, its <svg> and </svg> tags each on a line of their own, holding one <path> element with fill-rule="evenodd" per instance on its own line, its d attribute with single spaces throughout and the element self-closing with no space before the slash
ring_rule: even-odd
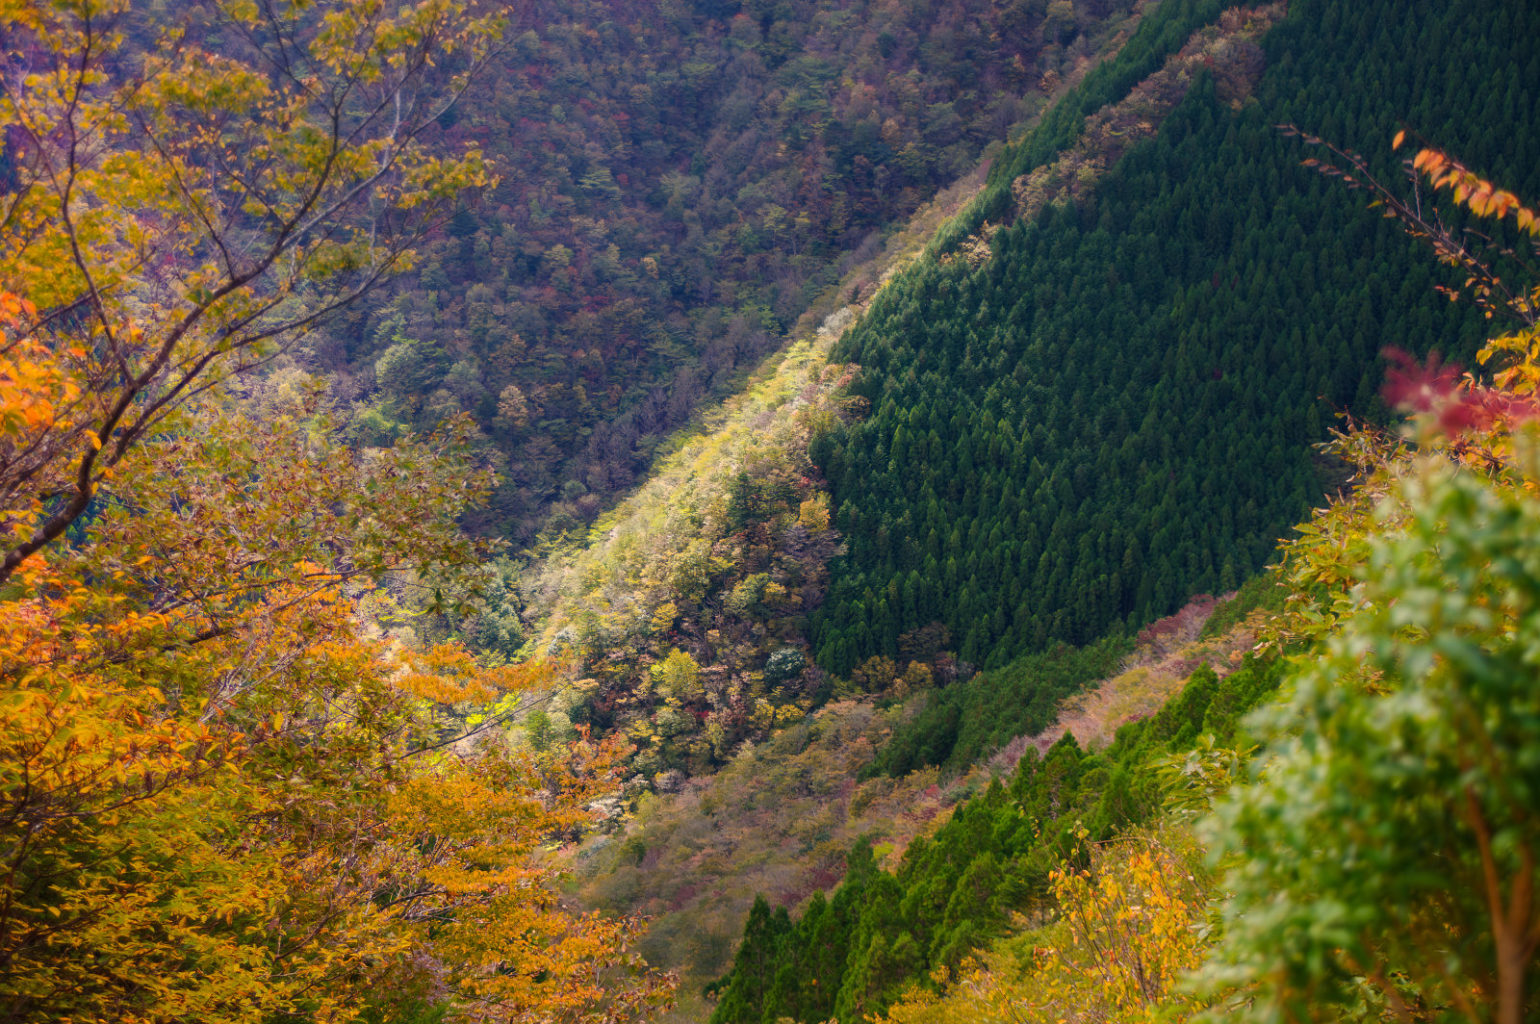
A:
<svg viewBox="0 0 1540 1024">
<path fill-rule="evenodd" d="M 1321 493 L 1307 445 L 1372 410 L 1381 348 L 1469 359 L 1483 320 L 1435 294 L 1449 276 L 1275 128 L 1368 148 L 1409 125 L 1534 191 L 1540 12 L 1418 11 L 1292 3 L 1250 97 L 1197 75 L 1152 140 L 1026 220 L 1032 180 L 996 179 L 950 234 L 983 231 L 975 259 L 938 253 L 876 299 L 833 354 L 873 414 L 815 440 L 850 539 L 822 665 L 933 622 L 1004 664 L 1232 587 Z"/>
</svg>

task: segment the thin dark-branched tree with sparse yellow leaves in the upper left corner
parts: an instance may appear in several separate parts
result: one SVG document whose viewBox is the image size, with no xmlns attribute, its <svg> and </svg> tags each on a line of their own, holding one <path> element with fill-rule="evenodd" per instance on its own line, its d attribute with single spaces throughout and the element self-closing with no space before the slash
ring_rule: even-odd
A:
<svg viewBox="0 0 1540 1024">
<path fill-rule="evenodd" d="M 0 582 L 177 405 L 408 265 L 444 203 L 491 180 L 427 134 L 497 18 L 464 0 L 214 9 L 172 28 L 128 0 L 0 5 L 0 286 L 29 302 L 8 351 L 48 354 L 46 410 L 0 448 Z"/>
</svg>

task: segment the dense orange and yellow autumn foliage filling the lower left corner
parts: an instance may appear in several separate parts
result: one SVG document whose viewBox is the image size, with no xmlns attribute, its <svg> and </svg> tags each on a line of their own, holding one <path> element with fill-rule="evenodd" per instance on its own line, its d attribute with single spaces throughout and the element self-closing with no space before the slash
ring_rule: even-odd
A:
<svg viewBox="0 0 1540 1024">
<path fill-rule="evenodd" d="M 651 982 L 601 972 L 634 925 L 562 910 L 541 855 L 616 751 L 510 753 L 464 708 L 542 668 L 414 651 L 357 614 L 374 573 L 464 557 L 450 513 L 474 480 L 428 447 L 360 457 L 314 417 L 257 430 L 228 407 L 136 450 L 134 487 L 5 591 L 8 1018 L 624 1015 Z"/>
</svg>

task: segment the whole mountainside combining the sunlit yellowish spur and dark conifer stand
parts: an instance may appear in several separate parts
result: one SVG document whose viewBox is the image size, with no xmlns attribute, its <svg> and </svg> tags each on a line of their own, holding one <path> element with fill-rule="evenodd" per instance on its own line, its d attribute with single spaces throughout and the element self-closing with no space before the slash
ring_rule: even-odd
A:
<svg viewBox="0 0 1540 1024">
<path fill-rule="evenodd" d="M 942 690 L 879 756 L 962 767 L 1096 678 L 1120 650 L 1106 631 L 1255 571 L 1332 471 L 1307 443 L 1335 408 L 1372 411 L 1380 346 L 1437 336 L 1469 353 L 1481 333 L 1415 246 L 1274 128 L 1348 103 L 1303 63 L 1404 79 L 1412 114 L 1438 122 L 1441 86 L 1408 49 L 1424 29 L 1388 37 L 1334 11 L 1295 5 L 1278 26 L 1277 3 L 1160 5 L 929 256 L 896 277 L 892 254 L 852 271 L 853 326 L 804 328 L 533 576 L 539 647 L 581 682 L 553 736 L 624 730 L 642 781 L 673 785 L 830 696 L 1012 664 Z M 1529 15 L 1440 17 L 1426 32 L 1474 45 Z M 1514 48 L 1471 89 L 1520 97 L 1528 62 Z M 841 330 L 836 359 L 861 366 L 849 388 L 824 371 Z"/>
</svg>

